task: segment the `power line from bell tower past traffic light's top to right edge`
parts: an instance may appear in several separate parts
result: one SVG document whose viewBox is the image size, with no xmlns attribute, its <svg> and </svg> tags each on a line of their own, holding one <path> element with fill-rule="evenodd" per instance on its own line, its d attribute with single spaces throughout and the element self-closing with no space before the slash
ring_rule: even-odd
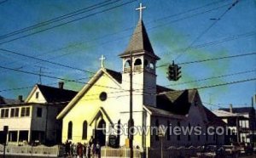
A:
<svg viewBox="0 0 256 158">
<path fill-rule="evenodd" d="M 248 56 L 248 55 L 255 55 L 255 54 L 256 54 L 256 52 L 249 53 L 249 54 L 230 55 L 230 56 L 224 56 L 224 57 L 212 58 L 212 59 L 201 59 L 201 60 L 195 60 L 195 61 L 188 61 L 188 62 L 178 63 L 177 65 L 188 65 L 188 64 L 201 63 L 201 62 L 218 60 L 218 59 L 237 58 L 237 57 Z M 166 66 L 166 65 L 169 65 L 169 63 L 164 64 L 164 65 L 159 65 L 159 66 L 157 66 L 157 68 L 163 67 L 163 66 Z"/>
</svg>

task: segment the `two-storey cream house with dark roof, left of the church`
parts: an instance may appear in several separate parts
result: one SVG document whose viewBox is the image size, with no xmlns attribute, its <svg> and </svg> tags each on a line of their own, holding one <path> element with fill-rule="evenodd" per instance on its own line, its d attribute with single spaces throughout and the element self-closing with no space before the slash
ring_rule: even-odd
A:
<svg viewBox="0 0 256 158">
<path fill-rule="evenodd" d="M 61 121 L 55 117 L 73 99 L 76 92 L 60 87 L 35 85 L 25 102 L 3 102 L 0 105 L 0 129 L 8 127 L 8 144 L 38 141 L 45 144 L 61 142 Z M 3 101 L 6 99 L 3 99 Z M 3 139 L 3 131 L 0 132 Z"/>
</svg>

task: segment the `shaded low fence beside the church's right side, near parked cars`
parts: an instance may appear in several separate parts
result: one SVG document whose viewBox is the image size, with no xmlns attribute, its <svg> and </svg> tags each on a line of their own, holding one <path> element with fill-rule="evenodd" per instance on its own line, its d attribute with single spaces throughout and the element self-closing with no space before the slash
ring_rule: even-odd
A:
<svg viewBox="0 0 256 158">
<path fill-rule="evenodd" d="M 163 150 L 163 157 L 165 158 L 176 158 L 176 157 L 196 157 L 196 153 L 201 151 L 201 147 L 190 146 L 185 148 L 181 147 L 169 147 L 168 149 Z M 160 157 L 160 149 L 148 149 L 148 158 Z"/>
</svg>

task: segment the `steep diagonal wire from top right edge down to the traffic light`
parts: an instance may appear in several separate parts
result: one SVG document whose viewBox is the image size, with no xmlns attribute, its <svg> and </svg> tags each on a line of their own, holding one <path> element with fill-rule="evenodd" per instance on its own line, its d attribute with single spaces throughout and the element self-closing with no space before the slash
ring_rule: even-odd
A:
<svg viewBox="0 0 256 158">
<path fill-rule="evenodd" d="M 218 20 L 221 20 L 221 19 L 224 17 L 224 15 L 227 14 L 227 13 L 230 11 L 231 8 L 233 8 L 233 7 L 236 6 L 236 4 L 237 4 L 238 2 L 239 2 L 239 0 L 236 0 L 236 2 L 232 3 L 232 5 L 231 5 L 228 9 L 226 9 L 226 10 L 224 11 L 224 13 L 221 14 L 221 15 L 218 17 L 217 20 L 214 20 L 214 21 L 213 21 L 212 25 L 209 25 L 209 27 L 207 27 L 206 30 L 202 31 L 201 34 L 200 34 L 198 37 L 196 37 L 195 40 L 194 40 L 193 42 L 191 42 L 187 48 L 184 49 L 183 54 L 185 54 L 185 53 L 189 50 L 189 48 L 191 48 L 191 47 L 195 44 L 195 42 L 197 42 L 202 36 L 204 36 L 204 34 L 206 34 L 207 31 L 209 31 L 209 30 L 213 27 L 213 25 L 216 25 L 217 22 L 218 22 Z M 181 55 L 182 55 L 182 54 L 179 54 L 176 59 L 178 59 Z M 176 60 L 176 59 L 175 59 L 175 60 Z"/>
</svg>

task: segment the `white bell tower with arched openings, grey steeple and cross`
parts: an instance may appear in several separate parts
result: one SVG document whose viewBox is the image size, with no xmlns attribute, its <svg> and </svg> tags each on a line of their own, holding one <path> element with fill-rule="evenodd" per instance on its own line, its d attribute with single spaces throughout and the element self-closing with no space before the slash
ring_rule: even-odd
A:
<svg viewBox="0 0 256 158">
<path fill-rule="evenodd" d="M 156 106 L 156 96 L 154 95 L 156 93 L 155 65 L 160 58 L 154 54 L 149 41 L 142 20 L 142 9 L 142 5 L 137 8 L 140 10 L 140 19 L 128 47 L 123 54 L 119 54 L 119 57 L 123 59 L 122 84 L 124 84 L 125 89 L 129 89 L 132 68 L 134 104 Z"/>
</svg>

